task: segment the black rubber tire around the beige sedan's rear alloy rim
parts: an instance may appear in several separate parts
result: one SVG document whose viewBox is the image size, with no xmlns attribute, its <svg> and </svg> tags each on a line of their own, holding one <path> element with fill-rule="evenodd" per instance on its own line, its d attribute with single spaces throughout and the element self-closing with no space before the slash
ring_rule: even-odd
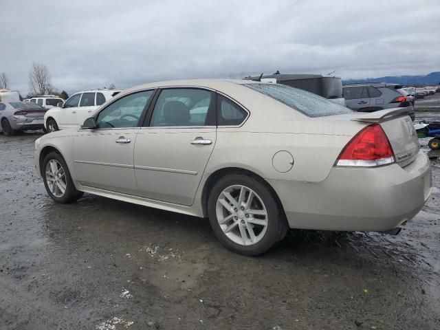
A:
<svg viewBox="0 0 440 330">
<path fill-rule="evenodd" d="M 217 220 L 217 199 L 221 192 L 230 186 L 241 185 L 256 192 L 267 211 L 267 230 L 263 238 L 253 245 L 235 243 L 226 236 Z M 245 256 L 258 256 L 282 241 L 287 233 L 288 224 L 285 213 L 278 203 L 272 189 L 261 179 L 243 174 L 227 175 L 217 181 L 208 200 L 209 221 L 217 239 L 229 250 Z"/>
</svg>

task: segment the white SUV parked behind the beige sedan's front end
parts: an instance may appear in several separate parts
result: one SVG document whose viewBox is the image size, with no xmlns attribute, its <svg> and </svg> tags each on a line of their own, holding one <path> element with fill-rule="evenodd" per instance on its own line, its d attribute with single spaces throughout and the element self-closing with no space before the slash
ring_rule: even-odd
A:
<svg viewBox="0 0 440 330">
<path fill-rule="evenodd" d="M 52 108 L 44 116 L 44 125 L 48 132 L 79 126 L 98 109 L 101 104 L 120 93 L 120 90 L 97 89 L 80 91 L 72 95 L 64 104 Z"/>
</svg>

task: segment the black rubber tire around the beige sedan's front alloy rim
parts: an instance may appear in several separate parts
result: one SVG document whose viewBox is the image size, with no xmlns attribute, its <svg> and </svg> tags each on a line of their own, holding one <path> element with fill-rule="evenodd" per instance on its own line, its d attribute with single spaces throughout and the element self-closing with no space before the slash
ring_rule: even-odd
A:
<svg viewBox="0 0 440 330">
<path fill-rule="evenodd" d="M 64 195 L 61 197 L 56 197 L 50 191 L 50 188 L 47 184 L 46 166 L 47 166 L 47 163 L 50 162 L 50 160 L 52 160 L 52 159 L 55 159 L 59 164 L 61 164 L 61 166 L 63 167 L 63 170 L 65 172 L 66 188 L 65 188 Z M 57 203 L 63 203 L 63 204 L 73 203 L 74 201 L 77 201 L 78 199 L 83 197 L 84 192 L 76 190 L 76 188 L 74 186 L 74 182 L 72 181 L 72 177 L 70 176 L 69 168 L 67 167 L 67 164 L 66 164 L 64 158 L 59 153 L 52 151 L 52 153 L 49 153 L 45 157 L 45 159 L 43 161 L 43 167 L 41 168 L 41 173 L 43 175 L 44 186 L 46 188 L 47 193 Z"/>
</svg>

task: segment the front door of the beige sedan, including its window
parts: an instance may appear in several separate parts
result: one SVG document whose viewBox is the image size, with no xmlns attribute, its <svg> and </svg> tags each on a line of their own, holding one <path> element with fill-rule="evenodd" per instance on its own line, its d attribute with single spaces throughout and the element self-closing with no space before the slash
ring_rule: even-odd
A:
<svg viewBox="0 0 440 330">
<path fill-rule="evenodd" d="M 84 186 L 135 195 L 133 148 L 142 114 L 153 91 L 115 100 L 96 115 L 96 129 L 81 129 L 74 138 L 76 179 Z"/>
</svg>

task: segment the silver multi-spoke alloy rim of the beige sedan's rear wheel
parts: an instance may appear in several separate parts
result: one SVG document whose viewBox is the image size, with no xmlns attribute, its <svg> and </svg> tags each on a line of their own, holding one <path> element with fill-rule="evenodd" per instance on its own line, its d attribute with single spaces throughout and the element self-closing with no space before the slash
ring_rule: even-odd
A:
<svg viewBox="0 0 440 330">
<path fill-rule="evenodd" d="M 267 210 L 254 190 L 241 185 L 225 188 L 217 198 L 217 221 L 236 244 L 254 245 L 267 231 Z"/>
</svg>

